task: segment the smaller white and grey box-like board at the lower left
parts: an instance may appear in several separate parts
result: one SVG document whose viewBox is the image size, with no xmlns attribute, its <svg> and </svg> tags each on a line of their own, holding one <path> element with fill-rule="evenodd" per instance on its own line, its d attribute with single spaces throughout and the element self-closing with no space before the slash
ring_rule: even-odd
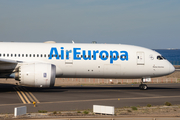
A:
<svg viewBox="0 0 180 120">
<path fill-rule="evenodd" d="M 21 107 L 15 107 L 14 108 L 14 116 L 19 116 L 19 115 L 24 115 L 27 112 L 27 107 L 26 106 L 21 106 Z"/>
</svg>

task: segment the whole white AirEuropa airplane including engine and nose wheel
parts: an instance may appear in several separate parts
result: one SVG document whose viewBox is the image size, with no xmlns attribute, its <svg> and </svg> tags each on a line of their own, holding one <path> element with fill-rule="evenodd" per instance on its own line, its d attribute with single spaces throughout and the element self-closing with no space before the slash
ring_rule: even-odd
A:
<svg viewBox="0 0 180 120">
<path fill-rule="evenodd" d="M 141 79 L 171 74 L 174 66 L 158 52 L 125 44 L 1 42 L 0 78 L 20 85 L 53 87 L 55 78 Z"/>
</svg>

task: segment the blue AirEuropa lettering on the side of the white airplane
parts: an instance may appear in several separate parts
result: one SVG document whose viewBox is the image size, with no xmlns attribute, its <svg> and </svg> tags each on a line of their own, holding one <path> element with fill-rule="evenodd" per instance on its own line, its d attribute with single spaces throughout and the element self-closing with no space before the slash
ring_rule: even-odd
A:
<svg viewBox="0 0 180 120">
<path fill-rule="evenodd" d="M 73 56 L 73 60 L 97 60 L 100 58 L 101 60 L 110 60 L 112 64 L 114 61 L 120 59 L 121 61 L 128 61 L 128 52 L 127 51 L 106 51 L 106 50 L 81 50 L 81 48 L 73 48 L 72 50 L 65 50 L 64 47 L 58 50 L 56 47 L 52 47 L 49 54 L 49 59 L 55 57 L 57 60 L 69 60 L 69 56 Z"/>
</svg>

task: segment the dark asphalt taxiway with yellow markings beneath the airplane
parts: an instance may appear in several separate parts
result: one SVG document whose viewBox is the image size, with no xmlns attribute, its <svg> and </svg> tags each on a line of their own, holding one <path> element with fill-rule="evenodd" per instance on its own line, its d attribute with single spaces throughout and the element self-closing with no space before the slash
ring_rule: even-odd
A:
<svg viewBox="0 0 180 120">
<path fill-rule="evenodd" d="M 28 112 L 92 109 L 93 105 L 119 107 L 180 104 L 180 84 L 58 86 L 30 88 L 0 84 L 0 113 L 13 113 L 14 107 L 27 106 Z M 33 106 L 33 101 L 37 107 Z"/>
</svg>

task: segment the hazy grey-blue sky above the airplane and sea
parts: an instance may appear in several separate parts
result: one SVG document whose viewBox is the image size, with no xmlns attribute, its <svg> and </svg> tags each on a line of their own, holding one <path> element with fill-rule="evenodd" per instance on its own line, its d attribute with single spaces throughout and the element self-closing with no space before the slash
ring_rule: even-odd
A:
<svg viewBox="0 0 180 120">
<path fill-rule="evenodd" d="M 180 49 L 180 0 L 0 0 L 0 41 Z"/>
</svg>

